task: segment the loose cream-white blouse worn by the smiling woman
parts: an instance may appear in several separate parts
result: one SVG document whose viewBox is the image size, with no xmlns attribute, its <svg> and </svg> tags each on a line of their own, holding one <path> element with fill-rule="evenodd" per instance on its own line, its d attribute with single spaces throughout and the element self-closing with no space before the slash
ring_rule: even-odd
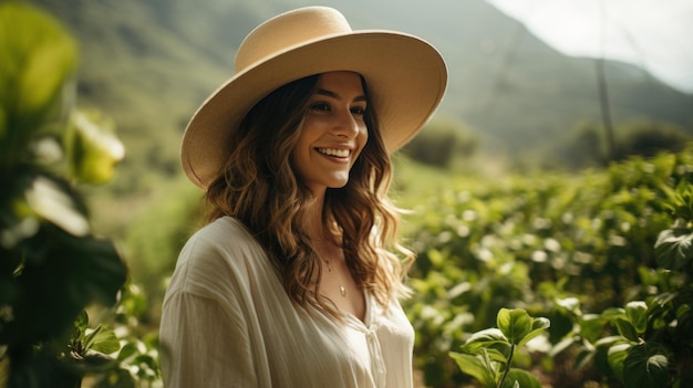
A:
<svg viewBox="0 0 693 388">
<path fill-rule="evenodd" d="M 366 293 L 364 322 L 294 307 L 265 251 L 220 218 L 180 252 L 159 328 L 166 388 L 411 388 L 414 331 Z"/>
</svg>

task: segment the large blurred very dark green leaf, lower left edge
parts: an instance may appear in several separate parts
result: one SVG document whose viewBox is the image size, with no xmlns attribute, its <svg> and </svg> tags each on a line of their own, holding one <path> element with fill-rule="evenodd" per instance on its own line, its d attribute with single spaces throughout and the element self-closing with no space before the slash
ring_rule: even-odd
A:
<svg viewBox="0 0 693 388">
<path fill-rule="evenodd" d="M 14 319 L 0 332 L 0 343 L 31 344 L 65 335 L 87 305 L 113 304 L 125 283 L 125 265 L 105 240 L 44 223 L 17 250 L 27 260 L 14 279 Z"/>
</svg>

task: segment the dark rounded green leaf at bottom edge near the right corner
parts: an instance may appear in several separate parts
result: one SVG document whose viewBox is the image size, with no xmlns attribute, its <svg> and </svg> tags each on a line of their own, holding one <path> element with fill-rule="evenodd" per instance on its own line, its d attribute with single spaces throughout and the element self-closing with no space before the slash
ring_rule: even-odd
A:
<svg viewBox="0 0 693 388">
<path fill-rule="evenodd" d="M 635 345 L 623 361 L 623 382 L 627 387 L 668 387 L 669 357 L 666 348 L 659 344 Z"/>
</svg>

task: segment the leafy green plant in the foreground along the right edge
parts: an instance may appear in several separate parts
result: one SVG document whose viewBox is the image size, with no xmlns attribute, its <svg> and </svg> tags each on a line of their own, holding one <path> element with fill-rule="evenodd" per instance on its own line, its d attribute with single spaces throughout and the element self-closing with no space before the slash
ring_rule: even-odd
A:
<svg viewBox="0 0 693 388">
<path fill-rule="evenodd" d="M 693 381 L 693 185 L 681 181 L 669 196 L 674 224 L 654 244 L 659 268 L 641 269 L 651 295 L 624 308 L 578 314 L 577 333 L 554 350 L 581 343 L 578 365 L 593 359 L 601 374 L 625 387 L 684 387 Z"/>
</svg>

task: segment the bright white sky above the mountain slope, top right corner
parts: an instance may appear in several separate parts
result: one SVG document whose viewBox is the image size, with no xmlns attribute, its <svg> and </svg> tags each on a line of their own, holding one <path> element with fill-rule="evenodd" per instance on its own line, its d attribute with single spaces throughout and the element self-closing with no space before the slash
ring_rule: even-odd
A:
<svg viewBox="0 0 693 388">
<path fill-rule="evenodd" d="M 639 65 L 693 93 L 693 0 L 487 0 L 576 56 Z"/>
</svg>

